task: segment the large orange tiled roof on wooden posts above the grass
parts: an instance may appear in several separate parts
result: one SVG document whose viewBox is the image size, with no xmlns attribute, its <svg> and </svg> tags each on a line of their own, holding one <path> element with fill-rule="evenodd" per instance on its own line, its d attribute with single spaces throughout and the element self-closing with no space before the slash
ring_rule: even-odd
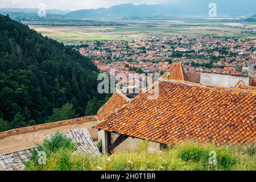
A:
<svg viewBox="0 0 256 182">
<path fill-rule="evenodd" d="M 96 127 L 152 142 L 185 139 L 216 144 L 252 143 L 256 136 L 256 92 L 160 81 L 159 97 L 147 92 Z"/>
</svg>

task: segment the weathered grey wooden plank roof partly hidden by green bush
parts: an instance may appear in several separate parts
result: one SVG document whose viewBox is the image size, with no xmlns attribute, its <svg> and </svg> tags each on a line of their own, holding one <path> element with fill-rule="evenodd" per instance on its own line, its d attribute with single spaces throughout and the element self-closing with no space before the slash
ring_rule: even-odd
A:
<svg viewBox="0 0 256 182">
<path fill-rule="evenodd" d="M 63 134 L 65 137 L 71 138 L 76 144 L 76 147 L 79 150 L 84 151 L 86 154 L 91 156 L 101 155 L 86 128 L 67 130 L 63 132 Z M 51 135 L 47 135 L 46 138 L 50 139 Z M 35 149 L 36 147 L 2 154 L 0 155 L 0 164 L 2 164 L 2 167 L 6 171 L 22 171 L 25 168 L 23 162 L 28 162 L 31 157 L 30 152 Z"/>
</svg>

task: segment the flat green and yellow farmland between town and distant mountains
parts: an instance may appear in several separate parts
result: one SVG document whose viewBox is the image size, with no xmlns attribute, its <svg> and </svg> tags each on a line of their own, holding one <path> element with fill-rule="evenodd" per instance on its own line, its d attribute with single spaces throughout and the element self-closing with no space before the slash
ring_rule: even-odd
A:
<svg viewBox="0 0 256 182">
<path fill-rule="evenodd" d="M 119 22 L 127 26 L 46 26 L 30 25 L 36 31 L 64 44 L 80 44 L 93 40 L 134 39 L 145 34 L 213 35 L 256 39 L 255 23 L 207 21 L 138 21 Z M 250 30 L 250 31 L 248 31 Z"/>
</svg>

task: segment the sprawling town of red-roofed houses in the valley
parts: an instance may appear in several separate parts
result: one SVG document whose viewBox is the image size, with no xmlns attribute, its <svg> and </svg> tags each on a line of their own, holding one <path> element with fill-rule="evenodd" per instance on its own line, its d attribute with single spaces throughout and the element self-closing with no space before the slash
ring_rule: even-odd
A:
<svg viewBox="0 0 256 182">
<path fill-rule="evenodd" d="M 256 61 L 256 41 L 235 38 L 150 34 L 86 45 L 80 53 L 92 57 L 102 72 L 111 68 L 127 72 L 136 67 L 160 73 L 171 61 L 181 61 L 188 71 L 247 75 L 246 68 Z"/>
</svg>

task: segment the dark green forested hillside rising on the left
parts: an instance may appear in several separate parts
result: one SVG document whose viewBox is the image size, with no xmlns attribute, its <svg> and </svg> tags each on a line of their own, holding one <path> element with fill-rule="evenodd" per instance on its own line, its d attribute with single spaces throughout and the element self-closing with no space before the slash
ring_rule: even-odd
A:
<svg viewBox="0 0 256 182">
<path fill-rule="evenodd" d="M 97 72 L 79 52 L 0 15 L 0 131 L 44 123 L 67 103 L 84 115 Z"/>
</svg>

